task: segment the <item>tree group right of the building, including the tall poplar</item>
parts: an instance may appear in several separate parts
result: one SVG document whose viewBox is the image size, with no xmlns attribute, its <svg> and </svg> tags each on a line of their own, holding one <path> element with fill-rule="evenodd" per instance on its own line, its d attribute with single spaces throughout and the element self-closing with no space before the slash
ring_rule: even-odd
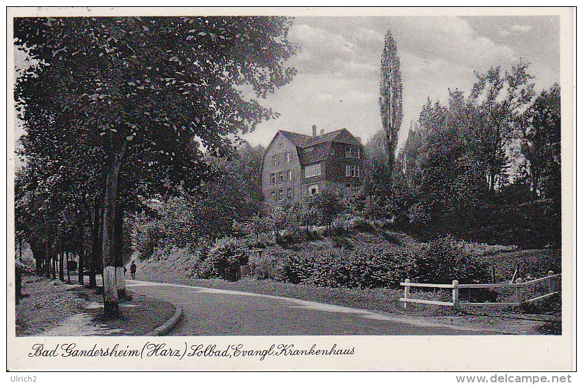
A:
<svg viewBox="0 0 583 385">
<path fill-rule="evenodd" d="M 395 157 L 401 74 L 390 31 L 381 56 L 383 130 L 366 145 L 364 195 L 425 238 L 560 247 L 560 86 L 534 92 L 528 64 L 475 73 L 464 96 L 429 98 Z"/>
</svg>

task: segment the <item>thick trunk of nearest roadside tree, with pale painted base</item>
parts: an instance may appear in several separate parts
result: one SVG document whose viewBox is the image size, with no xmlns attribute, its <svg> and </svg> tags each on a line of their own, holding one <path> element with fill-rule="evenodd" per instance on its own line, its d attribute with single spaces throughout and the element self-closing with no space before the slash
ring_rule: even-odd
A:
<svg viewBox="0 0 583 385">
<path fill-rule="evenodd" d="M 119 317 L 119 298 L 117 297 L 117 280 L 115 277 L 115 256 L 112 248 L 112 233 L 115 222 L 115 204 L 117 201 L 117 177 L 121 160 L 116 157 L 108 167 L 106 193 L 103 213 L 103 281 L 104 281 L 104 316 Z"/>
</svg>

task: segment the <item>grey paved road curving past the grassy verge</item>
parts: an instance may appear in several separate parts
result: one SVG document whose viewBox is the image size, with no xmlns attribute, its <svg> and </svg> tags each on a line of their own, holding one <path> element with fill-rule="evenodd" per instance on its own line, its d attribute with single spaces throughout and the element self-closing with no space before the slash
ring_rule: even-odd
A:
<svg viewBox="0 0 583 385">
<path fill-rule="evenodd" d="M 132 280 L 126 285 L 182 308 L 170 336 L 495 334 L 270 295 Z"/>
</svg>

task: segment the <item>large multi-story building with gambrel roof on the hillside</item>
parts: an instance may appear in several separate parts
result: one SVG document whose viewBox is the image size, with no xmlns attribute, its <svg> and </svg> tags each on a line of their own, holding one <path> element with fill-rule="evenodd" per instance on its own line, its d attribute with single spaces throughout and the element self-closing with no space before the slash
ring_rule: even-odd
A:
<svg viewBox="0 0 583 385">
<path fill-rule="evenodd" d="M 312 136 L 278 131 L 265 149 L 261 187 L 271 203 L 301 201 L 325 188 L 346 191 L 361 185 L 364 147 L 346 128 Z"/>
</svg>

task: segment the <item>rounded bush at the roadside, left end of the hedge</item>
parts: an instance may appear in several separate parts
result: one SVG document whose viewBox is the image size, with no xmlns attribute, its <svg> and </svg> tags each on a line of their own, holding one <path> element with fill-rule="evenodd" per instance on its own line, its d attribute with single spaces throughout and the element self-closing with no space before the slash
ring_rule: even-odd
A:
<svg viewBox="0 0 583 385">
<path fill-rule="evenodd" d="M 200 263 L 200 277 L 236 281 L 239 267 L 247 262 L 246 245 L 233 237 L 219 238 Z"/>
</svg>

